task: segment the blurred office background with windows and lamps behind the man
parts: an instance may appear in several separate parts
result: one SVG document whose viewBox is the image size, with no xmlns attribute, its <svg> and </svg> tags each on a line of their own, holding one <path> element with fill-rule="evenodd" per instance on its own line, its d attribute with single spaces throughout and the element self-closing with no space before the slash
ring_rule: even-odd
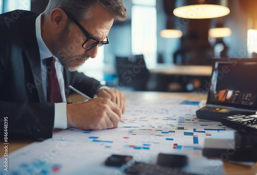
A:
<svg viewBox="0 0 257 175">
<path fill-rule="evenodd" d="M 216 60 L 253 58 L 257 53 L 255 0 L 123 0 L 127 19 L 109 32 L 110 44 L 99 48 L 80 72 L 121 90 L 206 92 Z M 15 9 L 44 11 L 47 0 L 0 0 L 0 13 Z M 175 16 L 192 4 L 230 9 L 222 17 L 193 19 L 200 8 Z M 222 32 L 215 30 L 219 28 Z M 169 30 L 166 30 L 169 29 Z"/>
</svg>

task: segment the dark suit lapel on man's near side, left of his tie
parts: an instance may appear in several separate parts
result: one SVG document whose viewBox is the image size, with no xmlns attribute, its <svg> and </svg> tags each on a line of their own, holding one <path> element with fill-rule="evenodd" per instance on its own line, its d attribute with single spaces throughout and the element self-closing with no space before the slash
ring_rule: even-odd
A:
<svg viewBox="0 0 257 175">
<path fill-rule="evenodd" d="M 41 74 L 41 60 L 39 54 L 39 46 L 38 41 L 36 41 L 35 35 L 35 19 L 38 16 L 31 15 L 26 17 L 22 24 L 22 30 L 24 33 L 25 42 L 27 43 L 28 47 L 24 50 L 28 62 L 31 67 L 32 75 L 34 78 L 34 85 L 38 91 L 39 100 L 40 102 L 45 102 L 43 85 L 42 85 L 42 74 Z M 28 30 L 30 29 L 30 30 Z"/>
</svg>

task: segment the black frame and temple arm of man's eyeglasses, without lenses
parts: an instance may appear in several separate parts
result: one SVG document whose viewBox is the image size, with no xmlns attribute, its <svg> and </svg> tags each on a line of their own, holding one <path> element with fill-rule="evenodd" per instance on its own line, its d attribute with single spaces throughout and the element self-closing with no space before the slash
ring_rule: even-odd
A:
<svg viewBox="0 0 257 175">
<path fill-rule="evenodd" d="M 64 11 L 64 10 L 63 10 L 63 11 Z M 66 13 L 67 17 L 70 18 L 70 19 L 80 28 L 80 30 L 82 31 L 82 33 L 86 36 L 85 42 L 82 43 L 82 48 L 83 48 L 83 49 L 87 49 L 87 50 L 88 50 L 88 49 L 94 48 L 95 46 L 99 45 L 100 43 L 101 43 L 101 45 L 99 45 L 98 47 L 101 47 L 101 46 L 103 46 L 103 45 L 107 45 L 107 44 L 109 43 L 108 36 L 106 37 L 106 41 L 99 41 L 99 40 L 97 40 L 97 39 L 91 37 L 91 36 L 89 35 L 89 33 L 88 33 L 88 32 L 81 26 L 81 24 L 75 19 L 75 17 L 73 17 L 70 13 L 68 13 L 68 12 L 66 12 L 66 11 L 64 11 L 64 12 Z M 96 41 L 96 43 L 95 43 L 94 45 L 88 47 L 88 48 L 84 48 L 85 43 L 86 43 L 87 41 L 89 41 L 89 40 L 94 40 L 94 41 Z"/>
</svg>

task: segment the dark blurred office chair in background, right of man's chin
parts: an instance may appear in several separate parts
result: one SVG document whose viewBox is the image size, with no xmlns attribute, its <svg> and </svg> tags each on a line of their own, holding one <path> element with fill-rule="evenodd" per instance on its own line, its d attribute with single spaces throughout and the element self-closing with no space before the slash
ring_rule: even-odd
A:
<svg viewBox="0 0 257 175">
<path fill-rule="evenodd" d="M 146 68 L 143 55 L 116 56 L 116 71 L 120 86 L 132 88 L 134 91 L 148 90 L 150 73 Z"/>
</svg>

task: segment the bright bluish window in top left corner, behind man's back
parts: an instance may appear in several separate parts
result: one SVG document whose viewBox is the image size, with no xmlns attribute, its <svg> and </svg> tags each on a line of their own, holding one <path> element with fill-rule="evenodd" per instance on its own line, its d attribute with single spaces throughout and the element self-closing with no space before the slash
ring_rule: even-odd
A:
<svg viewBox="0 0 257 175">
<path fill-rule="evenodd" d="M 31 0 L 0 0 L 3 3 L 2 13 L 12 10 L 30 10 Z M 0 2 L 0 3 L 1 3 Z"/>
</svg>

